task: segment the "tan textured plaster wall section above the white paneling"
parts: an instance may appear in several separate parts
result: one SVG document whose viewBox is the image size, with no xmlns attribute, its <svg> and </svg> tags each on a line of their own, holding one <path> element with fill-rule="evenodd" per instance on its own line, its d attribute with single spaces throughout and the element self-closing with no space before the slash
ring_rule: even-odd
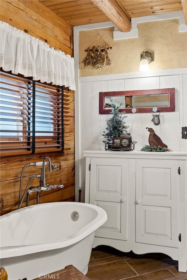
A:
<svg viewBox="0 0 187 280">
<path fill-rule="evenodd" d="M 114 27 L 79 31 L 79 76 L 96 76 L 139 71 L 143 51 L 154 53 L 150 71 L 187 67 L 187 32 L 179 32 L 179 18 L 138 24 L 138 37 L 113 40 Z M 112 64 L 102 69 L 84 67 L 85 49 L 103 45 L 113 47 L 108 51 Z"/>
</svg>

